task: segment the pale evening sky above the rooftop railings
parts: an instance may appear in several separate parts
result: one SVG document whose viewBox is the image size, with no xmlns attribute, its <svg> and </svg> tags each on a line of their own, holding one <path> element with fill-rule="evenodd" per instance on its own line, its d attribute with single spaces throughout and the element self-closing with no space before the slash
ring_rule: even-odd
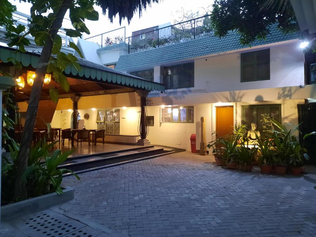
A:
<svg viewBox="0 0 316 237">
<path fill-rule="evenodd" d="M 9 1 L 17 6 L 17 11 L 30 15 L 30 3 L 20 3 L 19 1 L 14 0 Z M 161 25 L 167 22 L 173 23 L 173 19 L 177 18 L 176 11 L 180 10 L 181 7 L 185 10 L 200 10 L 200 12 L 203 12 L 203 9 L 201 8 L 208 7 L 213 4 L 213 2 L 213 0 L 164 0 L 160 3 L 153 3 L 146 11 L 143 11 L 141 18 L 138 17 L 137 12 L 132 18 L 130 25 L 128 25 L 127 20 L 125 20 L 122 21 L 121 26 L 126 27 L 126 37 L 131 36 L 131 32 L 136 30 Z M 113 23 L 110 23 L 107 16 L 102 15 L 100 7 L 95 6 L 94 9 L 99 12 L 99 21 L 86 21 L 86 25 L 90 30 L 90 35 L 84 34 L 84 39 L 121 27 L 119 25 L 118 17 L 113 19 Z M 70 20 L 65 19 L 63 27 L 70 28 L 70 26 Z"/>
</svg>

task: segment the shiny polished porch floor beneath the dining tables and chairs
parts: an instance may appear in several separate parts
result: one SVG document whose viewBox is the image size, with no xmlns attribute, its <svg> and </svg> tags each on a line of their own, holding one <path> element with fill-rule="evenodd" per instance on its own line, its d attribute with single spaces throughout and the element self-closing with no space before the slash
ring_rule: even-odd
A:
<svg viewBox="0 0 316 237">
<path fill-rule="evenodd" d="M 116 152 L 116 151 L 122 151 L 126 149 L 133 149 L 133 148 L 142 148 L 143 146 L 136 146 L 136 145 L 119 145 L 119 144 L 109 144 L 109 143 L 97 143 L 96 145 L 93 145 L 92 143 L 90 146 L 88 146 L 88 142 L 82 142 L 82 146 L 80 143 L 77 146 L 77 142 L 75 142 L 75 145 L 71 147 L 71 142 L 68 142 L 68 140 L 65 140 L 64 146 L 61 142 L 57 143 L 54 146 L 54 150 L 61 149 L 62 152 L 69 151 L 70 149 L 74 149 L 70 157 L 76 157 L 81 155 L 93 155 L 98 153 L 105 153 L 105 152 Z"/>
</svg>

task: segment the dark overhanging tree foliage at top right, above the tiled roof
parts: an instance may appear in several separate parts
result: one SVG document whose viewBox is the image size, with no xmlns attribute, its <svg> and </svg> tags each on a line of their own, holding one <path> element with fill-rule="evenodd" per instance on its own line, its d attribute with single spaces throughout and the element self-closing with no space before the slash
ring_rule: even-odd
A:
<svg viewBox="0 0 316 237">
<path fill-rule="evenodd" d="M 283 3 L 275 4 L 277 2 Z M 255 40 L 265 40 L 273 24 L 277 24 L 283 33 L 297 30 L 295 14 L 289 0 L 216 0 L 211 22 L 215 35 L 221 38 L 228 32 L 235 31 L 240 34 L 240 43 L 249 46 Z"/>
</svg>

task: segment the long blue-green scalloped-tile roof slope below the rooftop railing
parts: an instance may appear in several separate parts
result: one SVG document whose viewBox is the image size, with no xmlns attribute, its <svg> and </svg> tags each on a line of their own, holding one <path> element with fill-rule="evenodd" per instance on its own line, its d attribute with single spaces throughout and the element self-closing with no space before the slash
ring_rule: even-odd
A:
<svg viewBox="0 0 316 237">
<path fill-rule="evenodd" d="M 266 40 L 257 40 L 252 46 L 299 38 L 299 33 L 283 35 L 276 27 L 271 27 L 270 32 L 271 34 L 266 37 Z M 239 38 L 240 35 L 236 32 L 229 33 L 222 39 L 215 35 L 208 35 L 194 40 L 187 40 L 180 43 L 122 55 L 119 57 L 115 69 L 129 70 L 138 67 L 159 65 L 183 59 L 248 48 L 248 46 L 243 46 L 239 43 Z"/>
</svg>

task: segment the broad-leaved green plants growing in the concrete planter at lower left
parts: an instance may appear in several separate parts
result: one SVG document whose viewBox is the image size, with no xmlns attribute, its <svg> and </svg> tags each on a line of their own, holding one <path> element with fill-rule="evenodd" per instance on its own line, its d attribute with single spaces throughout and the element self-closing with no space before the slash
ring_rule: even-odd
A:
<svg viewBox="0 0 316 237">
<path fill-rule="evenodd" d="M 22 174 L 23 180 L 27 184 L 26 199 L 30 197 L 38 197 L 53 191 L 62 194 L 63 191 L 60 185 L 63 173 L 72 173 L 79 179 L 75 173 L 68 169 L 58 169 L 58 165 L 64 162 L 73 150 L 64 153 L 61 153 L 61 150 L 55 150 L 51 156 L 49 155 L 49 150 L 56 143 L 57 141 L 47 144 L 45 141 L 41 140 L 33 149 L 31 149 L 27 161 L 27 169 Z M 12 189 L 15 185 L 20 146 L 14 140 L 11 140 L 11 144 L 12 146 L 9 145 L 10 159 L 3 157 L 1 166 L 1 198 L 3 203 L 21 201 L 20 198 L 14 200 Z M 42 161 L 45 161 L 45 163 Z"/>
</svg>

